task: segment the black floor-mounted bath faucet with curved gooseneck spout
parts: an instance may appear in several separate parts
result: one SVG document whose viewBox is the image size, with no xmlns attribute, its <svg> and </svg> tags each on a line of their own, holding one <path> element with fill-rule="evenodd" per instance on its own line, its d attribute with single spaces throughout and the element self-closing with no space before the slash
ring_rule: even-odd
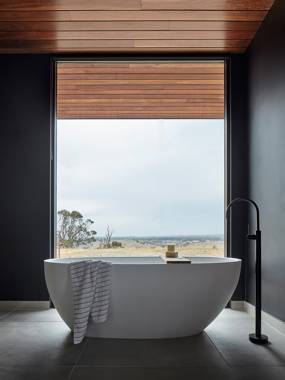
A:
<svg viewBox="0 0 285 380">
<path fill-rule="evenodd" d="M 259 210 L 257 204 L 251 199 L 237 198 L 226 208 L 226 219 L 229 218 L 231 206 L 238 201 L 250 202 L 256 210 L 255 235 L 247 235 L 247 240 L 255 240 L 255 334 L 249 334 L 249 340 L 253 343 L 263 344 L 268 342 L 268 336 L 261 334 L 261 231 L 259 229 Z"/>
</svg>

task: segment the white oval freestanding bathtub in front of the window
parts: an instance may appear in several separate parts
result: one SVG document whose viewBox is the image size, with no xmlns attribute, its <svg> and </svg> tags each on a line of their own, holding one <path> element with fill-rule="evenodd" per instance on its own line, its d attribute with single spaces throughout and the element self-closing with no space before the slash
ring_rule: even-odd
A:
<svg viewBox="0 0 285 380">
<path fill-rule="evenodd" d="M 160 257 L 91 257 L 113 264 L 107 320 L 88 323 L 85 336 L 153 339 L 203 331 L 231 298 L 241 260 L 187 258 L 191 264 L 166 264 Z M 84 259 L 44 261 L 52 302 L 71 331 L 74 311 L 69 263 Z"/>
</svg>

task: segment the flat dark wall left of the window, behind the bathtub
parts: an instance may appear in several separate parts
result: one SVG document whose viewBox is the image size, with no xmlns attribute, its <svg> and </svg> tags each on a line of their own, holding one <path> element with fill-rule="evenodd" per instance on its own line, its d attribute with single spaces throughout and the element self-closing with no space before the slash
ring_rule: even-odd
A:
<svg viewBox="0 0 285 380">
<path fill-rule="evenodd" d="M 49 54 L 0 54 L 0 300 L 49 300 Z"/>
</svg>

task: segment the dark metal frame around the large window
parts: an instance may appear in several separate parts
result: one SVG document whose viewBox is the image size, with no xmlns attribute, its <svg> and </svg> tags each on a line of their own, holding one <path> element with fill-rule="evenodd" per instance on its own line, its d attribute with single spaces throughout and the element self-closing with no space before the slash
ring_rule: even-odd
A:
<svg viewBox="0 0 285 380">
<path fill-rule="evenodd" d="M 231 202 L 231 112 L 230 112 L 230 54 L 62 54 L 51 56 L 51 166 L 50 166 L 50 258 L 56 253 L 56 127 L 57 127 L 57 63 L 224 63 L 225 76 L 225 210 Z M 225 219 L 225 257 L 230 252 L 231 218 Z"/>
</svg>

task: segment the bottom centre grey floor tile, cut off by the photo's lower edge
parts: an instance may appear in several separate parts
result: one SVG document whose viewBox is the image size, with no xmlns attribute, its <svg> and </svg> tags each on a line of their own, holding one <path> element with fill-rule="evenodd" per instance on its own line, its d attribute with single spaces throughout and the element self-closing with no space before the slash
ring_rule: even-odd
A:
<svg viewBox="0 0 285 380">
<path fill-rule="evenodd" d="M 238 380 L 230 367 L 78 367 L 70 380 Z"/>
</svg>

